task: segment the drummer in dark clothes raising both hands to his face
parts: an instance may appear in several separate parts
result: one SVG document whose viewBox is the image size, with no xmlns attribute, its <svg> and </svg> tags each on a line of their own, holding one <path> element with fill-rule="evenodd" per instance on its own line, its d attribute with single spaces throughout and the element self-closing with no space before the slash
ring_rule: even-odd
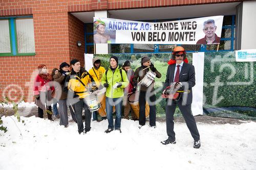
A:
<svg viewBox="0 0 256 170">
<path fill-rule="evenodd" d="M 153 71 L 157 78 L 161 78 L 160 72 L 156 69 L 153 63 L 151 63 L 150 58 L 147 56 L 144 56 L 141 59 L 141 66 L 135 70 L 133 82 L 137 82 L 139 79 L 139 82 L 145 77 L 148 71 Z M 151 93 L 150 96 L 146 96 L 146 92 L 153 92 L 154 91 L 154 81 L 147 87 L 143 84 L 140 85 L 140 91 L 139 91 L 139 128 L 145 125 L 146 123 L 146 116 L 145 116 L 145 104 L 146 100 L 150 104 L 150 126 L 156 128 L 156 95 Z M 148 94 L 148 93 L 147 93 Z"/>
</svg>

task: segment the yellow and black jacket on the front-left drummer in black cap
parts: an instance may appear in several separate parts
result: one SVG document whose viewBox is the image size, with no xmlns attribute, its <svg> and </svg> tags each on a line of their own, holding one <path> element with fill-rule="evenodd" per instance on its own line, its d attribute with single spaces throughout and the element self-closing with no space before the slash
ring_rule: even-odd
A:
<svg viewBox="0 0 256 170">
<path fill-rule="evenodd" d="M 72 70 L 68 88 L 79 95 L 80 99 L 83 99 L 89 92 L 89 83 L 91 83 L 91 79 L 86 70 L 80 70 L 78 73 Z"/>
</svg>

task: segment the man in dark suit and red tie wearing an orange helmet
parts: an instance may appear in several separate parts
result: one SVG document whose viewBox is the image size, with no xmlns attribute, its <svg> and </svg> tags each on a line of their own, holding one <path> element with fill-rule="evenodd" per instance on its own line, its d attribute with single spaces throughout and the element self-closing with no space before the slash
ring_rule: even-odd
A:
<svg viewBox="0 0 256 170">
<path fill-rule="evenodd" d="M 167 86 L 174 85 L 179 90 L 190 91 L 189 93 L 180 93 L 178 100 L 167 99 L 167 105 L 165 108 L 166 114 L 166 130 L 168 139 L 161 141 L 162 144 L 175 144 L 175 132 L 174 132 L 174 112 L 178 105 L 186 125 L 194 138 L 194 148 L 200 148 L 200 135 L 197 129 L 195 118 L 191 112 L 192 103 L 192 87 L 196 84 L 195 67 L 191 64 L 185 63 L 183 60 L 186 58 L 186 51 L 182 46 L 176 46 L 172 53 L 172 60 L 176 61 L 175 64 L 168 66 L 166 73 L 166 80 L 164 83 L 164 89 Z M 187 61 L 187 60 L 186 60 Z M 167 90 L 163 91 L 163 95 L 168 95 Z"/>
</svg>

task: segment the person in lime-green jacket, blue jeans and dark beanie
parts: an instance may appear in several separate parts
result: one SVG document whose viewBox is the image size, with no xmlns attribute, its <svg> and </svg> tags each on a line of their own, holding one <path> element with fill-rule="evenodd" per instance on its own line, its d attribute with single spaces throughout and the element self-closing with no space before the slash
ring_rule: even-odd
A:
<svg viewBox="0 0 256 170">
<path fill-rule="evenodd" d="M 108 118 L 109 126 L 105 133 L 114 130 L 113 106 L 116 108 L 115 130 L 121 133 L 121 110 L 123 99 L 123 88 L 127 87 L 129 81 L 126 73 L 118 66 L 118 58 L 112 56 L 110 58 L 110 67 L 106 69 L 102 76 L 101 83 L 106 87 L 106 118 Z"/>
</svg>

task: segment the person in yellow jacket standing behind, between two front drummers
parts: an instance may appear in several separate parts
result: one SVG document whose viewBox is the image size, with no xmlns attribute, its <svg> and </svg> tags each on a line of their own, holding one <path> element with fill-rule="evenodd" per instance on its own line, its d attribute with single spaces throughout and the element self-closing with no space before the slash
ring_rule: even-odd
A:
<svg viewBox="0 0 256 170">
<path fill-rule="evenodd" d="M 93 77 L 95 80 L 95 83 L 99 89 L 102 88 L 102 85 L 100 84 L 101 78 L 103 76 L 103 73 L 105 72 L 105 68 L 100 66 L 100 59 L 94 58 L 93 59 L 93 67 L 89 70 L 89 74 Z M 98 120 L 98 111 L 93 112 L 93 120 Z"/>
</svg>

